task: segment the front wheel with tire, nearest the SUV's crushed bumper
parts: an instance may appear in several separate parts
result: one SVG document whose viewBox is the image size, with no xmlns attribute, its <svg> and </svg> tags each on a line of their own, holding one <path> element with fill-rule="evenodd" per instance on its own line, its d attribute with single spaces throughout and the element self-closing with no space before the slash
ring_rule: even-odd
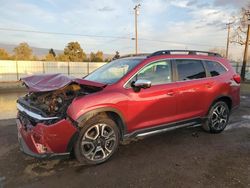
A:
<svg viewBox="0 0 250 188">
<path fill-rule="evenodd" d="M 74 145 L 76 159 L 87 165 L 106 162 L 118 149 L 119 129 L 106 116 L 96 116 L 87 121 L 80 130 Z"/>
</svg>

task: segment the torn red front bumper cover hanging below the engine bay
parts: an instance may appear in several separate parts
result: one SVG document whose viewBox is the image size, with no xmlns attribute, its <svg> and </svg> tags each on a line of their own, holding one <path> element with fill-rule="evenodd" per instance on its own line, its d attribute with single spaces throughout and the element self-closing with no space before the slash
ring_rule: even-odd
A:
<svg viewBox="0 0 250 188">
<path fill-rule="evenodd" d="M 16 123 L 20 149 L 25 154 L 35 158 L 65 157 L 70 154 L 78 130 L 68 119 L 51 125 L 32 125 L 24 113 L 18 113 Z"/>
</svg>

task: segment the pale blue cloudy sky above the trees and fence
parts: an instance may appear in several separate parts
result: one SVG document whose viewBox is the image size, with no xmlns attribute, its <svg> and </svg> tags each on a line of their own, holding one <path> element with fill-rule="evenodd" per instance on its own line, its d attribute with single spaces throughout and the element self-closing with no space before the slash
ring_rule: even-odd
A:
<svg viewBox="0 0 250 188">
<path fill-rule="evenodd" d="M 78 41 L 87 53 L 134 53 L 134 7 L 140 53 L 225 48 L 226 23 L 250 0 L 0 0 L 0 43 L 64 49 Z M 17 29 L 45 33 L 6 31 Z M 64 33 L 48 34 L 48 33 Z M 73 34 L 73 35 L 68 35 Z M 234 59 L 242 48 L 231 45 Z"/>
</svg>

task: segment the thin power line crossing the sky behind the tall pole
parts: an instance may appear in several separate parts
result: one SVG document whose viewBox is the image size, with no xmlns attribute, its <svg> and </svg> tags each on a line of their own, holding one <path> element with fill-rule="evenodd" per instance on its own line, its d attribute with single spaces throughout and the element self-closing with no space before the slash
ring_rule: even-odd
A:
<svg viewBox="0 0 250 188">
<path fill-rule="evenodd" d="M 62 32 L 48 32 L 48 31 L 37 31 L 37 30 L 24 30 L 24 29 L 11 29 L 11 28 L 0 28 L 0 31 L 12 31 L 12 32 L 25 32 L 25 33 L 37 33 L 37 34 L 49 34 L 49 35 L 64 35 L 64 36 L 80 36 L 80 37 L 91 37 L 91 38 L 112 38 L 112 39 L 125 39 L 131 40 L 130 37 L 124 36 L 109 36 L 109 35 L 90 35 L 90 34 L 79 34 L 79 33 L 62 33 Z M 192 46 L 205 46 L 205 47 L 224 47 L 220 45 L 209 45 L 209 44 L 199 44 L 199 43 L 189 43 L 189 42 L 178 42 L 178 41 L 168 41 L 168 40 L 156 40 L 156 39 L 146 39 L 140 38 L 140 41 L 149 42 L 161 42 L 161 43 L 171 43 L 171 44 L 182 44 L 182 45 L 192 45 Z"/>
</svg>

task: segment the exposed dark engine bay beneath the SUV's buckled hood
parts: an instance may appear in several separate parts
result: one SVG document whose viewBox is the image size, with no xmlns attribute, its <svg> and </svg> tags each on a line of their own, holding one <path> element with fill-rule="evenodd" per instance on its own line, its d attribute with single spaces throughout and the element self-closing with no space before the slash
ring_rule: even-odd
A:
<svg viewBox="0 0 250 188">
<path fill-rule="evenodd" d="M 56 117 L 57 120 L 60 120 L 66 117 L 68 106 L 74 98 L 100 90 L 101 88 L 72 83 L 54 91 L 29 92 L 24 97 L 20 97 L 17 103 L 21 105 L 21 108 L 28 109 L 32 113 L 43 117 L 43 119 Z M 21 113 L 20 109 L 19 113 Z M 39 119 L 33 117 L 32 121 L 39 122 Z"/>
</svg>

